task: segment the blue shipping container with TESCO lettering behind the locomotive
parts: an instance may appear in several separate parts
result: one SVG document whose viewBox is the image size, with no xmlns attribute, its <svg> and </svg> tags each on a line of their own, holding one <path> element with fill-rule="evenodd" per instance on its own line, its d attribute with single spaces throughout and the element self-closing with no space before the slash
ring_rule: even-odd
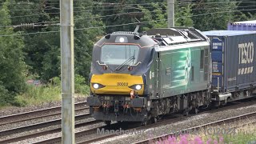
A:
<svg viewBox="0 0 256 144">
<path fill-rule="evenodd" d="M 256 31 L 203 32 L 211 42 L 212 86 L 219 93 L 256 86 Z"/>
</svg>

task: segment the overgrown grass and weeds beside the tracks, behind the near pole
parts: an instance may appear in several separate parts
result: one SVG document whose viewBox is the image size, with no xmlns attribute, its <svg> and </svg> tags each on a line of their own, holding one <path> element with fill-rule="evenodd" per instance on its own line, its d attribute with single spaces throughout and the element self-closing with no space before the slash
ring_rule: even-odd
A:
<svg viewBox="0 0 256 144">
<path fill-rule="evenodd" d="M 61 80 L 58 77 L 51 78 L 51 82 L 46 85 L 26 84 L 26 91 L 22 94 L 9 94 L 0 83 L 0 106 L 27 106 L 37 105 L 43 102 L 54 102 L 62 99 L 61 97 Z M 90 88 L 86 85 L 86 80 L 81 75 L 76 74 L 74 77 L 74 92 L 76 94 L 87 95 Z"/>
</svg>

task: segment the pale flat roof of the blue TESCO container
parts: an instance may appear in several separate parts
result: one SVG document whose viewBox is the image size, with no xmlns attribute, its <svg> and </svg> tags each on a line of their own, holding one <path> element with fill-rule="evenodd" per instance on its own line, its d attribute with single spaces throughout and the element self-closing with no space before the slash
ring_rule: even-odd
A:
<svg viewBox="0 0 256 144">
<path fill-rule="evenodd" d="M 242 34 L 256 34 L 256 31 L 242 31 L 242 30 L 210 30 L 203 31 L 202 34 L 209 36 L 235 36 Z"/>
</svg>

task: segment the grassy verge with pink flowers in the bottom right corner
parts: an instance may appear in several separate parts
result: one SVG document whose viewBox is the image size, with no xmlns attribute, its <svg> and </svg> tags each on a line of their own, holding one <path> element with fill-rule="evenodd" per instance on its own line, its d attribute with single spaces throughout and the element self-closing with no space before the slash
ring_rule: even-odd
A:
<svg viewBox="0 0 256 144">
<path fill-rule="evenodd" d="M 239 124 L 241 122 L 238 122 Z M 234 127 L 234 126 L 231 126 Z M 228 130 L 230 126 L 221 127 L 208 127 L 207 130 Z M 223 129 L 224 128 L 224 129 Z M 216 133 L 216 131 L 215 131 Z M 222 131 L 223 133 L 223 131 Z M 178 136 L 169 136 L 161 141 L 153 142 L 157 144 L 170 143 L 170 144 L 255 144 L 256 143 L 256 125 L 248 124 L 234 128 L 231 134 L 206 134 L 204 130 L 200 130 L 198 134 L 182 134 Z"/>
</svg>

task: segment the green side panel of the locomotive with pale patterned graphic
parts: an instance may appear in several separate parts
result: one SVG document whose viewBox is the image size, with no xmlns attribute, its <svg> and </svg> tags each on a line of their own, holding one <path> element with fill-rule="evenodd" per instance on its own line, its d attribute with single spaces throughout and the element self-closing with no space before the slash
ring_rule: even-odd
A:
<svg viewBox="0 0 256 144">
<path fill-rule="evenodd" d="M 162 97 L 206 90 L 210 84 L 209 53 L 207 42 L 160 47 L 158 80 Z"/>
</svg>

